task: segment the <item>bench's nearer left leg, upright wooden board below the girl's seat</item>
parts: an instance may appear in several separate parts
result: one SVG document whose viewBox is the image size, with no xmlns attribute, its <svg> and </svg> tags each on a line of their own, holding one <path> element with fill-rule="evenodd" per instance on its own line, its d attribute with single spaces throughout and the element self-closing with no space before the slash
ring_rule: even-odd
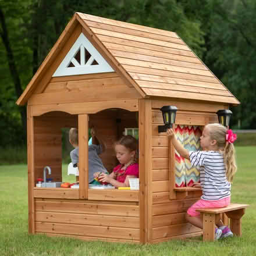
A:
<svg viewBox="0 0 256 256">
<path fill-rule="evenodd" d="M 214 241 L 215 238 L 215 219 L 219 219 L 219 214 L 204 213 L 202 217 L 202 240 Z"/>
</svg>

